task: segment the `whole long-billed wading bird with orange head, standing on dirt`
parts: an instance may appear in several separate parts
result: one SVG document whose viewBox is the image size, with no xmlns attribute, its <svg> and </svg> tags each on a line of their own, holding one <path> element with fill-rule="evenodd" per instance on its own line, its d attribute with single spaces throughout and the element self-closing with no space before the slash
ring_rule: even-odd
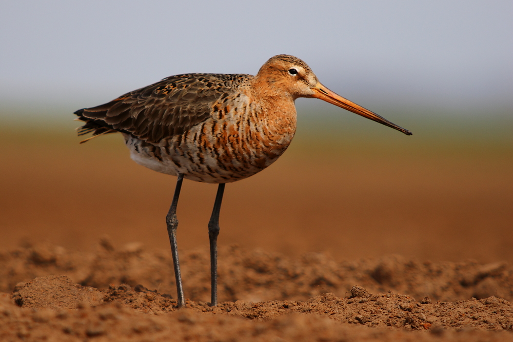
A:
<svg viewBox="0 0 513 342">
<path fill-rule="evenodd" d="M 121 133 L 135 163 L 177 176 L 166 225 L 176 279 L 177 307 L 185 306 L 176 242 L 176 208 L 183 178 L 218 184 L 208 223 L 211 306 L 218 304 L 217 239 L 225 185 L 271 165 L 289 146 L 296 129 L 294 101 L 314 97 L 406 135 L 389 122 L 322 85 L 301 59 L 271 57 L 256 75 L 188 73 L 169 76 L 106 104 L 74 112 L 87 140 Z"/>
</svg>

